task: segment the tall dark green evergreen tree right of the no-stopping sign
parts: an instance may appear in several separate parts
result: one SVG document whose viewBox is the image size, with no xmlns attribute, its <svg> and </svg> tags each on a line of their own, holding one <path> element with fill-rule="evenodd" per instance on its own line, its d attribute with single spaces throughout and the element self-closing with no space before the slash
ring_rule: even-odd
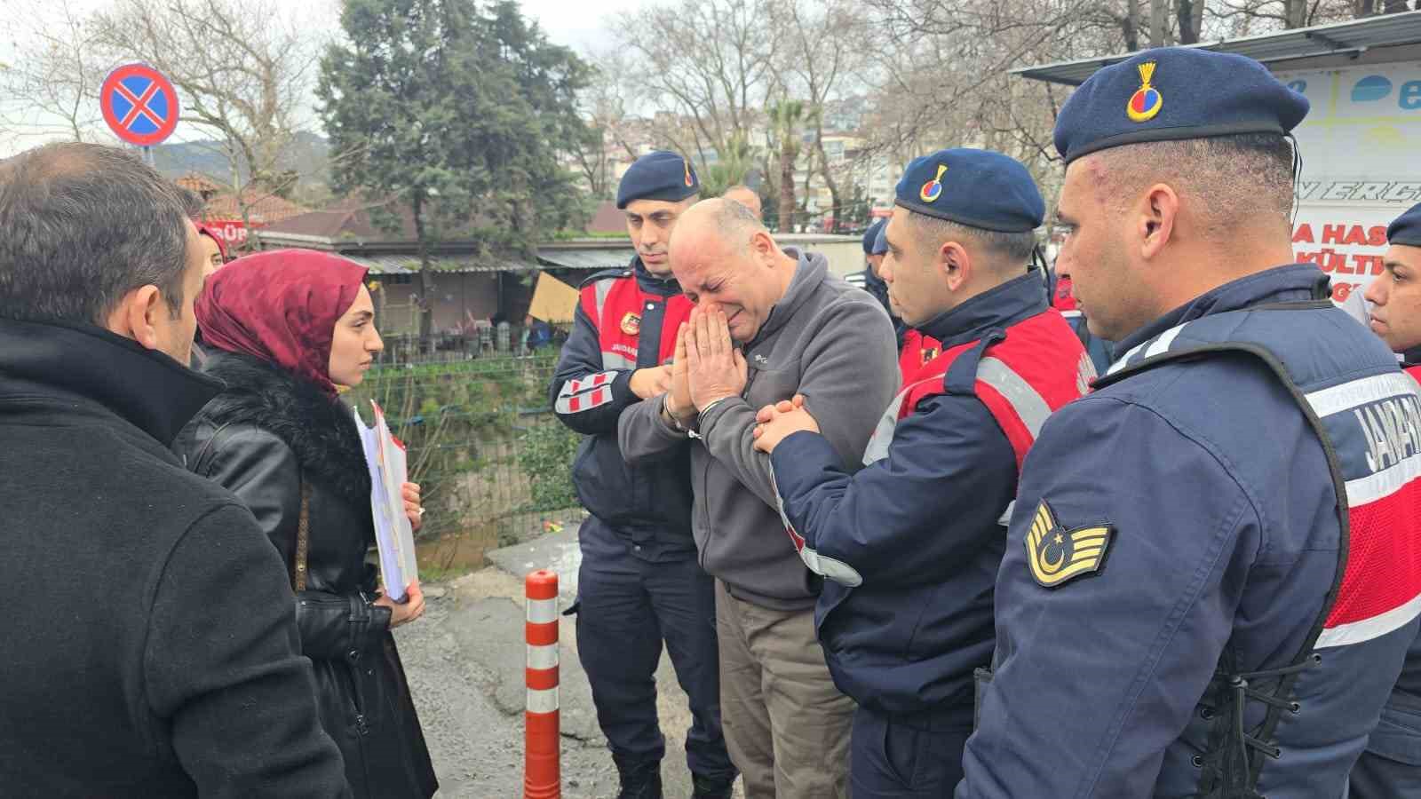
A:
<svg viewBox="0 0 1421 799">
<path fill-rule="evenodd" d="M 331 176 L 414 219 L 428 338 L 439 242 L 531 257 L 539 237 L 583 216 L 560 154 L 594 135 L 576 108 L 588 68 L 512 0 L 345 0 L 341 27 L 317 90 Z M 399 213 L 375 219 L 401 227 Z"/>
</svg>

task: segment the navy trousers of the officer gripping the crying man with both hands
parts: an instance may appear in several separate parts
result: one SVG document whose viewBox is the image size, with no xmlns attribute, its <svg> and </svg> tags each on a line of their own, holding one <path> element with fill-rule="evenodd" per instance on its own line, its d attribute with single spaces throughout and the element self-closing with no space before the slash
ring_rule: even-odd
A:
<svg viewBox="0 0 1421 799">
<path fill-rule="evenodd" d="M 854 799 L 941 799 L 962 781 L 971 729 L 917 729 L 872 711 L 854 714 Z"/>
</svg>

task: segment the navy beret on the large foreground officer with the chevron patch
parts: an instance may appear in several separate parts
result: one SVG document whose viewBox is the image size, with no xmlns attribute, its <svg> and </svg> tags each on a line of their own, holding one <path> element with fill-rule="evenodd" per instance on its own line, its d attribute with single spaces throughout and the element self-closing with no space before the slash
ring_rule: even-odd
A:
<svg viewBox="0 0 1421 799">
<path fill-rule="evenodd" d="M 1307 98 L 1245 55 L 1158 47 L 1090 77 L 1056 117 L 1066 163 L 1138 142 L 1233 134 L 1286 134 L 1307 115 Z"/>
</svg>

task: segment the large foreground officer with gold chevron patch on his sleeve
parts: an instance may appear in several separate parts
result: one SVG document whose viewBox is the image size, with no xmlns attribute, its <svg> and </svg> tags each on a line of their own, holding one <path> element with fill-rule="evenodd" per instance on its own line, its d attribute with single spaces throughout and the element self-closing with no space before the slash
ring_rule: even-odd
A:
<svg viewBox="0 0 1421 799">
<path fill-rule="evenodd" d="M 1417 637 L 1421 397 L 1290 263 L 1306 114 L 1192 48 L 1061 108 L 1060 262 L 1117 360 L 1022 472 L 958 799 L 1346 792 Z"/>
</svg>

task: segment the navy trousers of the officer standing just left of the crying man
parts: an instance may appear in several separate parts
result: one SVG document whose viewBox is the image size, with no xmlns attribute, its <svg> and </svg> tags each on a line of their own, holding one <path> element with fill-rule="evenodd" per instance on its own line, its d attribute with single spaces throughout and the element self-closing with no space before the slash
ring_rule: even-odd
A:
<svg viewBox="0 0 1421 799">
<path fill-rule="evenodd" d="M 637 761 L 666 754 L 655 675 L 665 641 L 691 705 L 686 765 L 701 776 L 733 778 L 720 732 L 715 587 L 695 553 L 648 563 L 584 550 L 577 580 L 578 660 L 612 754 Z"/>
</svg>

